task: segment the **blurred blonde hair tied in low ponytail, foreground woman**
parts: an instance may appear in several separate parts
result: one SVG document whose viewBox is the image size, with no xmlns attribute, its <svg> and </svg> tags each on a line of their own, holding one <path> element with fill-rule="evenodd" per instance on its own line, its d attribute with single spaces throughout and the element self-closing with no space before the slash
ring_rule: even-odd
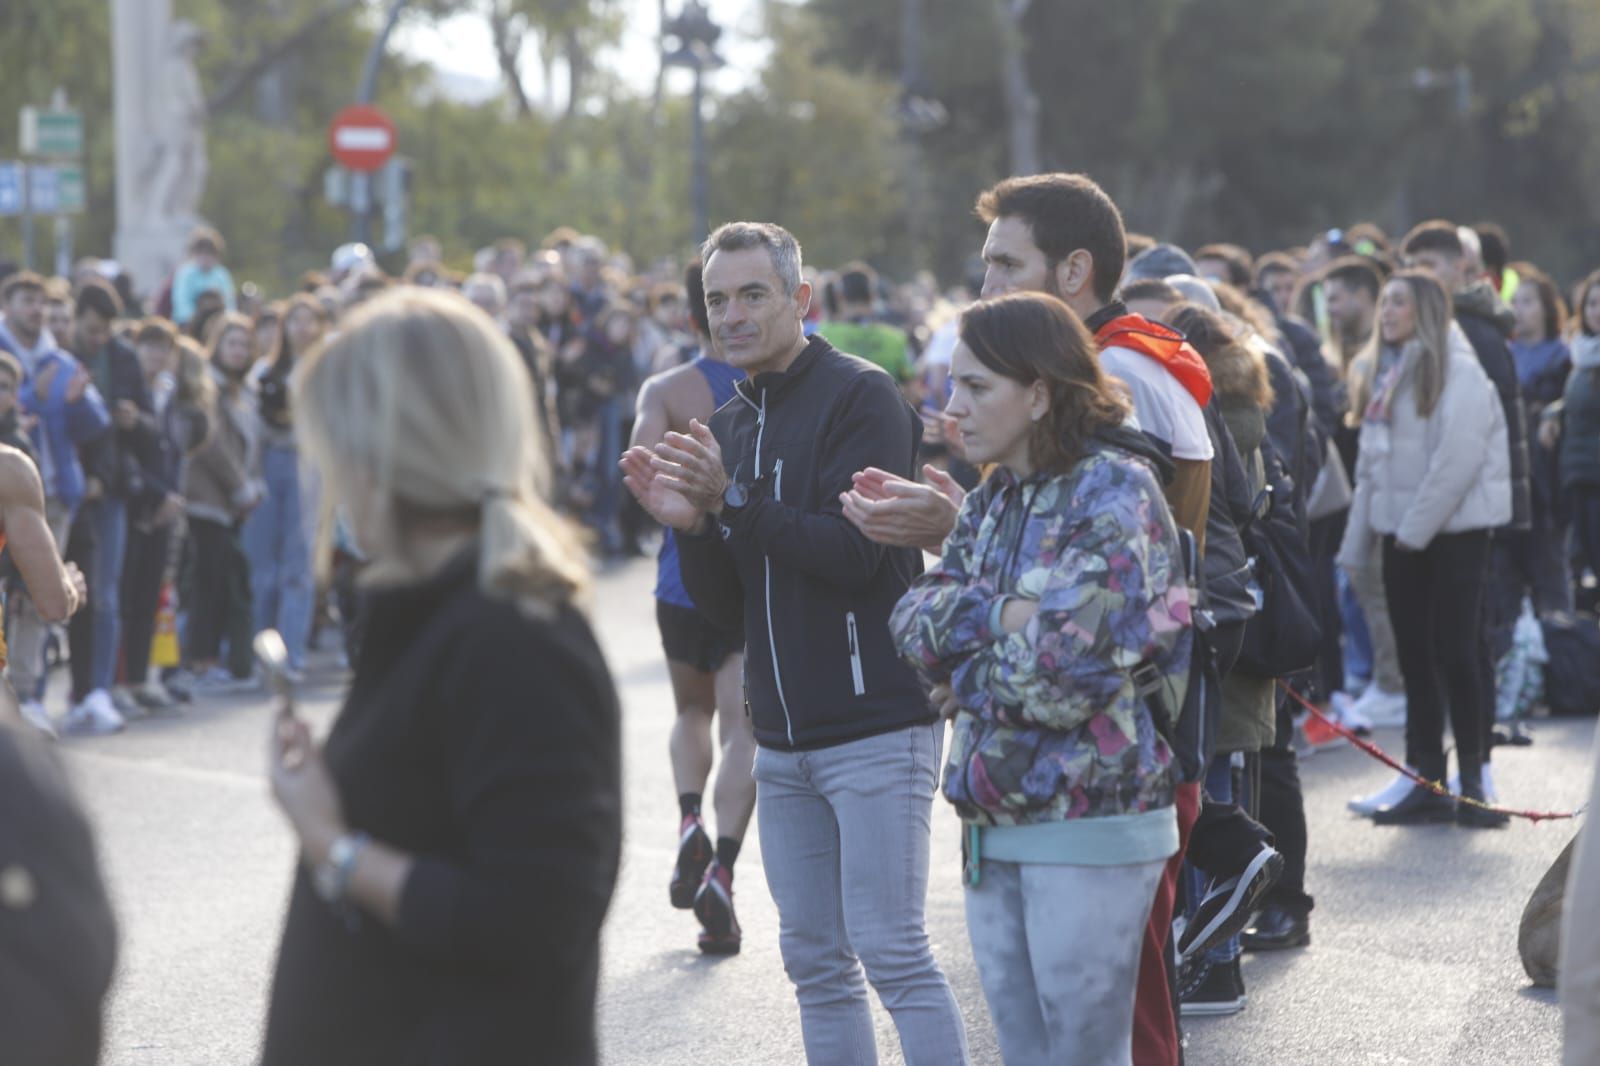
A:
<svg viewBox="0 0 1600 1066">
<path fill-rule="evenodd" d="M 352 312 L 293 378 L 294 429 L 333 501 L 371 483 L 394 543 L 411 523 L 478 525 L 478 586 L 533 610 L 582 599 L 589 571 L 570 523 L 546 503 L 533 386 L 510 341 L 466 298 L 398 288 Z"/>
</svg>

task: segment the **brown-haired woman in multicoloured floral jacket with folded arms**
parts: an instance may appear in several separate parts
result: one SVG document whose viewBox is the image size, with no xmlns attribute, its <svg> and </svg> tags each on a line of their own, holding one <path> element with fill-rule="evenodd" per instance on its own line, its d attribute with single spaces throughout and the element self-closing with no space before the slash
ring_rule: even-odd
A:
<svg viewBox="0 0 1600 1066">
<path fill-rule="evenodd" d="M 950 378 L 966 456 L 997 469 L 890 626 L 955 719 L 944 794 L 984 997 L 1008 1063 L 1128 1063 L 1141 936 L 1178 850 L 1178 533 L 1066 304 L 976 304 Z"/>
</svg>

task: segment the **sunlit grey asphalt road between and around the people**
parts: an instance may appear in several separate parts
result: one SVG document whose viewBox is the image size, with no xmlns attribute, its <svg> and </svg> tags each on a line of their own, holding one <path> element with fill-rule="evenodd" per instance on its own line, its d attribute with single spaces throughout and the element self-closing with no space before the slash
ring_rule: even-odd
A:
<svg viewBox="0 0 1600 1066">
<path fill-rule="evenodd" d="M 667 906 L 677 829 L 666 757 L 672 703 L 651 579 L 653 567 L 635 563 L 605 575 L 597 594 L 624 693 L 627 765 L 626 855 L 602 978 L 605 1061 L 800 1063 L 754 828 L 736 882 L 744 954 L 701 957 L 694 919 Z M 341 680 L 334 656 L 320 656 L 309 715 L 323 723 L 333 715 Z M 104 1058 L 112 1066 L 254 1061 L 293 864 L 264 778 L 267 722 L 267 701 L 254 695 L 136 723 L 120 736 L 62 743 L 122 922 Z M 1533 747 L 1498 752 L 1501 792 L 1518 807 L 1571 808 L 1586 792 L 1592 735 L 1589 720 L 1539 723 Z M 1398 731 L 1381 731 L 1379 741 L 1397 746 Z M 1522 973 L 1517 922 L 1573 823 L 1379 829 L 1344 812 L 1349 795 L 1381 786 L 1387 773 L 1350 749 L 1307 760 L 1314 943 L 1246 957 L 1248 1008 L 1190 1023 L 1189 1063 L 1558 1061 L 1554 997 Z M 942 802 L 931 880 L 934 951 L 966 1016 L 973 1061 L 998 1063 L 962 919 L 957 823 Z M 899 1063 L 893 1023 L 874 1010 L 880 1058 Z"/>
</svg>

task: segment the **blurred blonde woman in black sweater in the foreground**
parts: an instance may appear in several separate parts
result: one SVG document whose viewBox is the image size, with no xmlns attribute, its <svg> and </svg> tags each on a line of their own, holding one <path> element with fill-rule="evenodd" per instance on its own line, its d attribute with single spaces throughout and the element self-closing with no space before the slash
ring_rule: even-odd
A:
<svg viewBox="0 0 1600 1066">
<path fill-rule="evenodd" d="M 301 447 L 371 565 L 326 743 L 291 712 L 274 733 L 302 863 L 266 1066 L 595 1061 L 618 701 L 531 395 L 483 312 L 418 288 L 296 371 Z"/>
</svg>

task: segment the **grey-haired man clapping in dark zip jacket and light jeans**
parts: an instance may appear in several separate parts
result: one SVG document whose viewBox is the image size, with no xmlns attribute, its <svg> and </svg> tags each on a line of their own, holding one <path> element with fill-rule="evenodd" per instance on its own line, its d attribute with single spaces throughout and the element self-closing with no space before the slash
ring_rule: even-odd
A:
<svg viewBox="0 0 1600 1066">
<path fill-rule="evenodd" d="M 749 376 L 709 429 L 630 448 L 622 467 L 678 530 L 694 605 L 749 637 L 757 824 L 806 1058 L 872 1047 L 864 968 L 906 1061 L 965 1063 L 923 922 L 942 723 L 888 631 L 922 555 L 867 539 L 842 504 L 856 471 L 912 477 L 922 421 L 886 373 L 806 341 L 787 230 L 733 222 L 701 259 L 712 338 Z"/>
</svg>

